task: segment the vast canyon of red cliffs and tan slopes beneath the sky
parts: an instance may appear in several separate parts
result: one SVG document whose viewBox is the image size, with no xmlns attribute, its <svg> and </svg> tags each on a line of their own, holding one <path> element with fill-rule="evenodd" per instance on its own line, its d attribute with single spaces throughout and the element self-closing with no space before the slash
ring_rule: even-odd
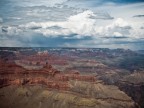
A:
<svg viewBox="0 0 144 108">
<path fill-rule="evenodd" d="M 77 51 L 65 51 L 62 55 L 55 50 L 27 49 L 13 52 L 3 50 L 1 53 L 1 108 L 143 106 L 143 77 L 139 78 L 143 72 L 138 72 L 140 75 L 131 74 L 98 59 L 77 55 Z M 106 57 L 104 54 L 101 56 Z M 136 81 L 131 82 L 134 78 Z M 133 91 L 130 92 L 131 89 Z"/>
</svg>

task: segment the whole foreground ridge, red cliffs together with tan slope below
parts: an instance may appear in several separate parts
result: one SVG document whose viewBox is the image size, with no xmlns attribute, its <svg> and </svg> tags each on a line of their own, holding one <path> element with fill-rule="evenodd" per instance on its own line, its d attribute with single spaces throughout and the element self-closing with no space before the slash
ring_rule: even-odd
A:
<svg viewBox="0 0 144 108">
<path fill-rule="evenodd" d="M 39 63 L 21 63 L 0 61 L 0 108 L 138 107 L 116 86 L 104 85 L 93 74 L 65 73 L 48 63 L 41 68 L 33 68 L 40 66 Z"/>
</svg>

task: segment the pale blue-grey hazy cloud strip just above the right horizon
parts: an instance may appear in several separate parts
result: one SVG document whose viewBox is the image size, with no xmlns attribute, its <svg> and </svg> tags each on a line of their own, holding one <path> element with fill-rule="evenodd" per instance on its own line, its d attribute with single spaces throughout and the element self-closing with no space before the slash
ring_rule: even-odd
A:
<svg viewBox="0 0 144 108">
<path fill-rule="evenodd" d="M 139 50 L 143 49 L 144 39 L 141 40 L 127 40 L 125 38 L 97 38 L 97 40 L 80 40 L 76 43 L 65 42 L 61 47 L 84 47 L 84 48 L 124 48 Z"/>
</svg>

